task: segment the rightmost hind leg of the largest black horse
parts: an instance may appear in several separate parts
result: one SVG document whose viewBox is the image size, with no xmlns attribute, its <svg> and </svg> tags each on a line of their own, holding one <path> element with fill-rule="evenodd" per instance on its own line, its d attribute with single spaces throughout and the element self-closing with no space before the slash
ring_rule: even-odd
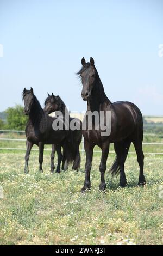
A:
<svg viewBox="0 0 163 256">
<path fill-rule="evenodd" d="M 143 141 L 143 131 L 141 131 L 139 136 L 136 136 L 135 139 L 133 139 L 133 144 L 136 150 L 137 154 L 137 162 L 139 163 L 140 171 L 139 171 L 139 182 L 138 186 L 144 186 L 146 184 L 146 179 L 143 173 L 144 168 L 144 154 L 142 150 L 142 141 Z"/>
</svg>

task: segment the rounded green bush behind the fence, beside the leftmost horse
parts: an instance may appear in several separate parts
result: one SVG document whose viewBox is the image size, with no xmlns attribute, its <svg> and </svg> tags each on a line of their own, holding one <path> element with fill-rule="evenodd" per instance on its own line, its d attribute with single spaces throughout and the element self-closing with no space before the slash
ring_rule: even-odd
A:
<svg viewBox="0 0 163 256">
<path fill-rule="evenodd" d="M 7 125 L 10 130 L 24 130 L 27 124 L 28 117 L 23 113 L 23 107 L 16 105 L 9 107 L 5 112 L 7 113 Z"/>
</svg>

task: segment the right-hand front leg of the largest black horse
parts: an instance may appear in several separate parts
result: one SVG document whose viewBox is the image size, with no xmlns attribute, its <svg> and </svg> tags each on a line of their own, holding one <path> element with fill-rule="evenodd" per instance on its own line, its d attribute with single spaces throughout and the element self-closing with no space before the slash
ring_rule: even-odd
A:
<svg viewBox="0 0 163 256">
<path fill-rule="evenodd" d="M 106 161 L 108 159 L 109 154 L 109 143 L 105 142 L 102 145 L 102 156 L 101 156 L 101 162 L 99 165 L 99 171 L 101 173 L 101 182 L 99 184 L 99 190 L 105 191 L 106 188 L 106 182 L 105 182 L 105 170 L 106 170 Z"/>
</svg>

